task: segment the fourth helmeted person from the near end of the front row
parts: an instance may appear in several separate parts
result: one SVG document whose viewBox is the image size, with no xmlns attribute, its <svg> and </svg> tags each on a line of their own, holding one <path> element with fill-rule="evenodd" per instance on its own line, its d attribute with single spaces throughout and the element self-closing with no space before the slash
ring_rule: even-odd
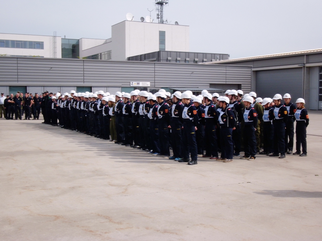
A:
<svg viewBox="0 0 322 241">
<path fill-rule="evenodd" d="M 151 130 L 151 147 L 152 150 L 150 154 L 156 156 L 160 154 L 160 143 L 159 143 L 159 126 L 158 126 L 158 106 L 156 104 L 156 96 L 154 94 L 149 95 L 147 98 L 149 104 L 151 105 L 150 111 L 148 113 L 148 118 L 150 119 L 150 130 Z"/>
</svg>

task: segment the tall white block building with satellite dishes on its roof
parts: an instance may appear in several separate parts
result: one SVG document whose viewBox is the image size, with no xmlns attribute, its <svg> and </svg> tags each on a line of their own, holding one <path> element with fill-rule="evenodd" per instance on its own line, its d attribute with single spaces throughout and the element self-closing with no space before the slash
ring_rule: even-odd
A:
<svg viewBox="0 0 322 241">
<path fill-rule="evenodd" d="M 189 52 L 189 26 L 123 21 L 112 26 L 111 36 L 107 40 L 80 39 L 80 57 L 127 60 L 159 50 Z"/>
</svg>

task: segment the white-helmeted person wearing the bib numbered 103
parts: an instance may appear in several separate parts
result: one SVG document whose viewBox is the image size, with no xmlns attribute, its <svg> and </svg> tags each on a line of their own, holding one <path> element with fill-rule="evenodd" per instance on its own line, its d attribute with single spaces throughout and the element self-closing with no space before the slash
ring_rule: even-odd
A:
<svg viewBox="0 0 322 241">
<path fill-rule="evenodd" d="M 267 156 L 273 153 L 273 136 L 274 136 L 274 108 L 270 106 L 270 98 L 264 98 L 262 106 L 264 107 L 263 114 L 263 151 L 260 154 Z"/>
</svg>

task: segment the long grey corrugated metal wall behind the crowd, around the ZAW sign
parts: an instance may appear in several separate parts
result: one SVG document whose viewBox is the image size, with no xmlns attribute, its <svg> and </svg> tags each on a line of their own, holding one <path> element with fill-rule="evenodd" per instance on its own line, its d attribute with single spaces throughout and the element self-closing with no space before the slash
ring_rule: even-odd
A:
<svg viewBox="0 0 322 241">
<path fill-rule="evenodd" d="M 240 84 L 251 91 L 251 67 L 89 59 L 0 57 L 0 85 L 209 87 Z"/>
</svg>

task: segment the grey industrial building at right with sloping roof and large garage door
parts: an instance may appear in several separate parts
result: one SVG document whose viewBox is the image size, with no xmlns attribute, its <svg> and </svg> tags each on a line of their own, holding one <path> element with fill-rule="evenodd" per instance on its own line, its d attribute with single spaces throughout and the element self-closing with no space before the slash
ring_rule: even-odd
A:
<svg viewBox="0 0 322 241">
<path fill-rule="evenodd" d="M 201 65 L 251 66 L 251 90 L 260 97 L 289 93 L 304 98 L 310 110 L 322 110 L 322 49 L 214 61 Z"/>
</svg>

